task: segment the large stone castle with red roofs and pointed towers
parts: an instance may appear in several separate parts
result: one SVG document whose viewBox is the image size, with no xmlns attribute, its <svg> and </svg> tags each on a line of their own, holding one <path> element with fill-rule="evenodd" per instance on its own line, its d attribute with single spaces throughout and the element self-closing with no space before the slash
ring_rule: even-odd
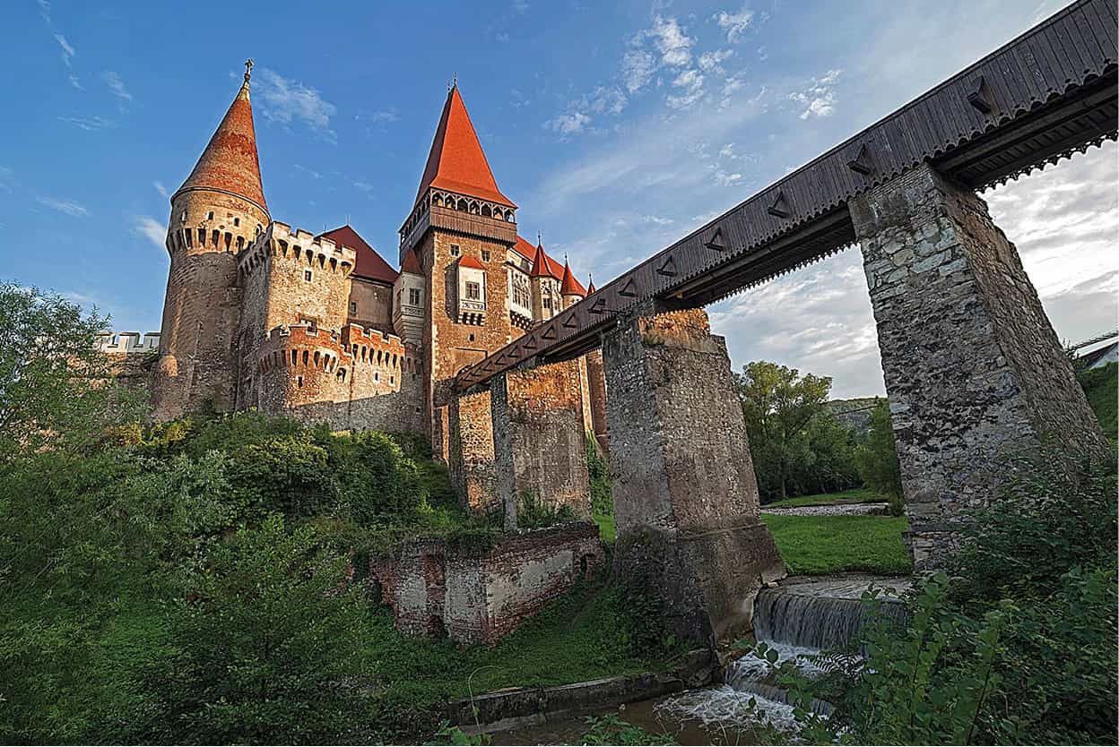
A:
<svg viewBox="0 0 1119 747">
<path fill-rule="evenodd" d="M 256 408 L 338 429 L 420 433 L 446 460 L 455 375 L 587 290 L 566 261 L 517 234 L 517 206 L 497 186 L 457 84 L 399 229 L 399 271 L 348 225 L 312 235 L 275 220 L 251 72 L 250 60 L 171 196 L 153 417 Z M 585 431 L 604 439 L 601 357 L 580 359 L 574 375 Z"/>
</svg>

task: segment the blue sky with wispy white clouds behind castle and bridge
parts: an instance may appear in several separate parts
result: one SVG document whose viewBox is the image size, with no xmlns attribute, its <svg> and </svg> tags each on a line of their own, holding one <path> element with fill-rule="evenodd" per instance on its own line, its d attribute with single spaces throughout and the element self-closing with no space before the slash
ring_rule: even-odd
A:
<svg viewBox="0 0 1119 747">
<path fill-rule="evenodd" d="M 601 284 L 1062 4 L 8 2 L 0 278 L 157 329 L 168 195 L 252 56 L 274 218 L 348 220 L 395 264 L 457 74 L 521 235 Z M 986 195 L 1063 339 L 1116 324 L 1116 157 L 1109 144 Z M 857 249 L 709 311 L 735 367 L 883 390 Z"/>
</svg>

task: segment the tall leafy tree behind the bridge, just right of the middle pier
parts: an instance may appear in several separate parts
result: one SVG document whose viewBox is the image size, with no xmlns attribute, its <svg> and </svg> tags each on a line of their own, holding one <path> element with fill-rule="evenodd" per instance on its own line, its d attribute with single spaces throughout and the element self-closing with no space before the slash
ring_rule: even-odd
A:
<svg viewBox="0 0 1119 747">
<path fill-rule="evenodd" d="M 756 360 L 735 375 L 750 453 L 764 494 L 789 494 L 791 464 L 803 429 L 824 413 L 831 378 Z"/>
</svg>

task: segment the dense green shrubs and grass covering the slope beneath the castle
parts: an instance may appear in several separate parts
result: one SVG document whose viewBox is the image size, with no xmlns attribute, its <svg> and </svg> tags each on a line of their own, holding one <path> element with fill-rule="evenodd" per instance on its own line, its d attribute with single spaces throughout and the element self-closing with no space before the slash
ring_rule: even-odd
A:
<svg viewBox="0 0 1119 747">
<path fill-rule="evenodd" d="M 677 654 L 656 604 L 603 580 L 493 649 L 403 636 L 361 560 L 497 538 L 422 444 L 255 413 L 142 427 L 88 353 L 102 320 L 7 301 L 23 311 L 0 334 L 19 379 L 0 387 L 0 741 L 415 743 L 446 698 Z M 62 339 L 32 356 L 82 356 L 22 360 L 36 325 Z"/>
</svg>

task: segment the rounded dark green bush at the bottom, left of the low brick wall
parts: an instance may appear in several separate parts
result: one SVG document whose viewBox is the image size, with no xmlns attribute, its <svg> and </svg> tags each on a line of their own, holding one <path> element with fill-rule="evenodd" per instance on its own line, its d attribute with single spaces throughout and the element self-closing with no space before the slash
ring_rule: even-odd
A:
<svg viewBox="0 0 1119 747">
<path fill-rule="evenodd" d="M 159 740 L 305 744 L 352 739 L 369 696 L 365 608 L 345 558 L 280 514 L 214 547 L 177 579 L 163 655 L 143 675 Z"/>
</svg>

